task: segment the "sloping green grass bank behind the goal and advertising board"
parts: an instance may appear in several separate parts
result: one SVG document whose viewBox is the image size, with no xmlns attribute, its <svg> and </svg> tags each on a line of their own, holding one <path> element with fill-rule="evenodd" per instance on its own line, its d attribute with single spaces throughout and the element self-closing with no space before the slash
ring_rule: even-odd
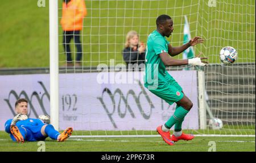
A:
<svg viewBox="0 0 256 163">
<path fill-rule="evenodd" d="M 123 62 L 121 51 L 127 32 L 138 31 L 141 40 L 146 42 L 160 14 L 174 19 L 174 34 L 168 38 L 174 47 L 182 44 L 184 15 L 187 15 L 191 36 L 205 39 L 203 45 L 195 47 L 195 52 L 202 51 L 210 63 L 220 63 L 218 52 L 226 45 L 237 49 L 236 62 L 255 62 L 255 1 L 217 1 L 216 7 L 209 7 L 207 2 L 86 1 L 88 15 L 81 38 L 83 65 L 109 64 L 110 59 L 115 59 L 115 64 Z M 34 0 L 1 3 L 0 68 L 49 66 L 48 7 L 48 1 L 46 7 L 38 7 Z M 61 35 L 59 26 L 59 61 L 63 65 Z M 73 44 L 71 48 L 74 50 Z"/>
</svg>

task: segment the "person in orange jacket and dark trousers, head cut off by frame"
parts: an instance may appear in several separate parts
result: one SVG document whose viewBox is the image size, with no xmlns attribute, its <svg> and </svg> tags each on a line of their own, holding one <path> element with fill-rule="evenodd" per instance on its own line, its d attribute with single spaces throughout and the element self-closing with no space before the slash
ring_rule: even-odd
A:
<svg viewBox="0 0 256 163">
<path fill-rule="evenodd" d="M 87 15 L 84 0 L 63 0 L 62 17 L 60 24 L 63 28 L 63 45 L 67 60 L 66 66 L 73 66 L 69 43 L 74 39 L 76 45 L 76 66 L 81 66 L 82 45 L 80 31 L 82 30 L 83 18 Z"/>
</svg>

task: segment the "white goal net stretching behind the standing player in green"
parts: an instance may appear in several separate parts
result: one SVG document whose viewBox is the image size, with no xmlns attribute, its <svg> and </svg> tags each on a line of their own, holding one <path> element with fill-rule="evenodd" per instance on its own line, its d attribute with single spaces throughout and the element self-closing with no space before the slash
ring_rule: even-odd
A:
<svg viewBox="0 0 256 163">
<path fill-rule="evenodd" d="M 82 29 L 72 35 L 61 27 L 63 1 L 59 1 L 60 129 L 71 126 L 82 136 L 156 135 L 156 127 L 170 118 L 176 105 L 168 105 L 145 89 L 143 68 L 126 71 L 122 51 L 129 31 L 137 31 L 139 41 L 146 44 L 147 36 L 156 29 L 156 18 L 167 14 L 174 22 L 174 32 L 167 38 L 170 44 L 173 47 L 183 44 L 186 16 L 191 36 L 205 39 L 193 51 L 196 55 L 202 52 L 210 62 L 205 68 L 189 65 L 168 68 L 194 104 L 183 129 L 194 134 L 255 135 L 255 1 L 84 3 L 87 14 Z M 71 41 L 66 40 L 63 45 L 68 35 Z M 77 35 L 81 43 L 75 41 Z M 80 65 L 76 64 L 78 44 L 82 51 Z M 73 65 L 67 64 L 67 45 Z M 225 46 L 238 52 L 238 60 L 232 65 L 223 65 L 219 60 L 220 49 Z M 201 84 L 199 72 L 204 77 Z M 218 122 L 209 125 L 213 118 L 221 120 L 221 129 L 213 129 L 221 125 Z"/>
</svg>

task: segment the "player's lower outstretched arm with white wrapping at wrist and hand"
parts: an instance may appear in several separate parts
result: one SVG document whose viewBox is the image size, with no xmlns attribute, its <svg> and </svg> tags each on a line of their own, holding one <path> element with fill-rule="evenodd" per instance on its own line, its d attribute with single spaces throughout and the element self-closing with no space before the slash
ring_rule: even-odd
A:
<svg viewBox="0 0 256 163">
<path fill-rule="evenodd" d="M 178 60 L 171 58 L 166 52 L 160 53 L 159 57 L 163 61 L 164 65 L 166 66 L 181 66 L 181 65 L 198 65 L 198 66 L 205 66 L 205 64 L 208 64 L 207 57 L 200 57 L 201 53 L 196 57 L 188 60 Z"/>
</svg>

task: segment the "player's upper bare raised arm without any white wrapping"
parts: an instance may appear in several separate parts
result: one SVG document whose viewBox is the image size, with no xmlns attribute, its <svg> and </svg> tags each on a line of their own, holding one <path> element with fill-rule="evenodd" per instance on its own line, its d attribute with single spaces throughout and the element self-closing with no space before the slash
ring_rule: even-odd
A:
<svg viewBox="0 0 256 163">
<path fill-rule="evenodd" d="M 176 56 L 185 51 L 185 49 L 195 46 L 196 44 L 204 43 L 204 39 L 199 36 L 193 37 L 193 39 L 189 40 L 187 44 L 183 44 L 180 47 L 172 47 L 170 44 L 168 45 L 168 53 L 171 56 Z"/>
</svg>

